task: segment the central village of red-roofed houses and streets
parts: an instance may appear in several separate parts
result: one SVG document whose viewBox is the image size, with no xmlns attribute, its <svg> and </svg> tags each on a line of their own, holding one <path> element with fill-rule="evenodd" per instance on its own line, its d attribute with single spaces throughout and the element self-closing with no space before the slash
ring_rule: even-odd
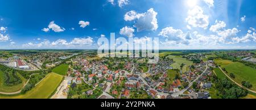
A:
<svg viewBox="0 0 256 110">
<path fill-rule="evenodd" d="M 198 55 L 200 57 L 200 55 Z M 108 61 L 112 61 L 110 64 Z M 82 95 L 93 95 L 93 98 L 155 98 L 155 99 L 208 99 L 209 92 L 204 91 L 212 87 L 209 77 L 213 74 L 209 66 L 214 66 L 212 61 L 189 66 L 189 70 L 182 73 L 179 70 L 174 78 L 168 77 L 168 70 L 174 70 L 170 65 L 171 59 L 160 59 L 157 64 L 143 65 L 142 58 L 98 58 L 88 60 L 86 55 L 72 59 L 69 67 L 69 88 L 77 85 L 86 85 L 83 92 L 69 94 L 69 98 L 81 98 Z M 111 65 L 111 66 L 109 66 Z M 143 67 L 141 67 L 143 65 Z M 146 69 L 142 69 L 146 67 Z M 193 88 L 196 84 L 196 88 Z M 94 91 L 97 95 L 94 94 Z M 100 92 L 101 94 L 98 94 Z M 185 94 L 186 93 L 186 94 Z"/>
</svg>

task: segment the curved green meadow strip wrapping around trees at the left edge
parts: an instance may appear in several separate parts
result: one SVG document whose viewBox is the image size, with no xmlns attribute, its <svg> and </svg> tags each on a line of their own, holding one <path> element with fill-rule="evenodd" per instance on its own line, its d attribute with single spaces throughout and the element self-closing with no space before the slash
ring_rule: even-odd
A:
<svg viewBox="0 0 256 110">
<path fill-rule="evenodd" d="M 18 74 L 18 77 L 22 79 L 22 83 L 16 84 L 14 86 L 6 86 L 4 84 L 4 79 L 3 79 L 3 72 L 0 71 L 0 92 L 16 92 L 19 91 L 23 85 L 27 82 L 25 78 L 22 77 L 22 75 Z"/>
</svg>

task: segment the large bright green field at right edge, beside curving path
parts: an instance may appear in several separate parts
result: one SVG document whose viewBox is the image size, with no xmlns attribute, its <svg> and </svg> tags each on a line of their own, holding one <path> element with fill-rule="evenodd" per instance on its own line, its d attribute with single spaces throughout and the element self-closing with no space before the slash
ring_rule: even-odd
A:
<svg viewBox="0 0 256 110">
<path fill-rule="evenodd" d="M 235 62 L 233 64 L 224 66 L 224 68 L 228 71 L 228 73 L 234 73 L 236 76 L 234 81 L 240 84 L 242 81 L 249 81 L 251 84 L 253 84 L 251 90 L 256 91 L 256 69 L 246 66 L 241 62 Z"/>
</svg>

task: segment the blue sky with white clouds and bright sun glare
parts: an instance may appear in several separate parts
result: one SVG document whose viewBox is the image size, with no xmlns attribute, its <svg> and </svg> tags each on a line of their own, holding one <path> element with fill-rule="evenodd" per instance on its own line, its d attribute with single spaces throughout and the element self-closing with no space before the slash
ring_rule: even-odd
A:
<svg viewBox="0 0 256 110">
<path fill-rule="evenodd" d="M 97 49 L 100 37 L 159 49 L 256 49 L 254 0 L 0 0 L 0 49 Z M 135 42 L 135 41 L 134 41 Z M 155 42 L 156 43 L 156 42 Z"/>
</svg>

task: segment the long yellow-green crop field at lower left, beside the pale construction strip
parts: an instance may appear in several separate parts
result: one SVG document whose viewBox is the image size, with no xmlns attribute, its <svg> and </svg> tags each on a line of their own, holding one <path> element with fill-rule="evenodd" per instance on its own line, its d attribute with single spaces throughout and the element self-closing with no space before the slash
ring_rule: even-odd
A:
<svg viewBox="0 0 256 110">
<path fill-rule="evenodd" d="M 63 76 L 55 73 L 43 79 L 35 88 L 26 92 L 24 95 L 6 96 L 0 95 L 0 99 L 47 99 L 56 90 L 63 79 Z"/>
</svg>

